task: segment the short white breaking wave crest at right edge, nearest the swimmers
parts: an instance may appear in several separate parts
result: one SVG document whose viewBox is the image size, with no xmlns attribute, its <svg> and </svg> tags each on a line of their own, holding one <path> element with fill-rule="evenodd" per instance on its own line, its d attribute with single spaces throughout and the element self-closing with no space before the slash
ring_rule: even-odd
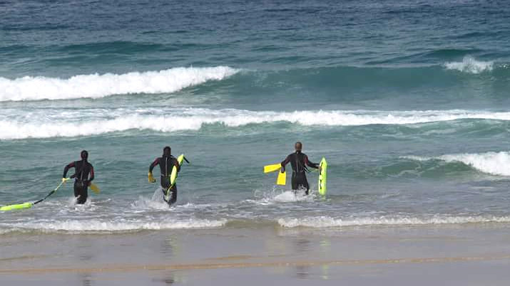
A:
<svg viewBox="0 0 510 286">
<path fill-rule="evenodd" d="M 509 152 L 486 152 L 480 154 L 448 154 L 439 157 L 407 156 L 407 159 L 417 161 L 442 160 L 447 162 L 461 162 L 474 169 L 498 176 L 510 176 Z"/>
</svg>

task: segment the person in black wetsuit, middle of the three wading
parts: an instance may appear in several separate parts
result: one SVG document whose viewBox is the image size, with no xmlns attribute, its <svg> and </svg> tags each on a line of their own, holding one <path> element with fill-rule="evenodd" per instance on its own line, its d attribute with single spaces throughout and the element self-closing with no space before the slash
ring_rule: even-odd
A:
<svg viewBox="0 0 510 286">
<path fill-rule="evenodd" d="M 155 179 L 153 177 L 153 169 L 156 165 L 159 165 L 160 168 L 160 184 L 163 191 L 163 200 L 165 200 L 165 191 L 168 190 L 168 187 L 170 187 L 170 174 L 172 173 L 173 166 L 177 166 L 177 172 L 180 171 L 179 162 L 175 157 L 171 155 L 172 149 L 170 149 L 169 146 L 163 148 L 163 156 L 156 158 L 151 166 L 149 166 L 149 181 L 151 183 L 155 182 Z M 168 201 L 168 205 L 171 205 L 172 203 L 175 203 L 177 201 L 177 186 L 174 184 L 170 190 L 170 198 Z"/>
</svg>

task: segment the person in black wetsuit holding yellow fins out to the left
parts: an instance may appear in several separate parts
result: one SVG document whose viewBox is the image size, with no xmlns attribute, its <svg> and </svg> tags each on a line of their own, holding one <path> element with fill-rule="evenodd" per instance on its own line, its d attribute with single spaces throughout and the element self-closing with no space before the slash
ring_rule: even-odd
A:
<svg viewBox="0 0 510 286">
<path fill-rule="evenodd" d="M 290 162 L 292 166 L 292 190 L 306 189 L 306 194 L 308 194 L 310 186 L 308 185 L 305 174 L 305 171 L 308 171 L 307 166 L 314 169 L 319 169 L 320 166 L 308 160 L 308 156 L 301 152 L 302 147 L 303 145 L 301 142 L 296 142 L 294 145 L 296 151 L 282 161 L 282 169 L 280 171 L 282 173 L 285 172 L 285 165 Z"/>
</svg>

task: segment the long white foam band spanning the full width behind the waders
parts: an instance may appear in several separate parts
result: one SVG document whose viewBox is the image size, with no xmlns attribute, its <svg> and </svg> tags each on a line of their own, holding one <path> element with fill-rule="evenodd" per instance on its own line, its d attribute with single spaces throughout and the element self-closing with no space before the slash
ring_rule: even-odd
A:
<svg viewBox="0 0 510 286">
<path fill-rule="evenodd" d="M 47 116 L 51 112 L 51 116 Z M 58 113 L 60 112 L 60 113 Z M 303 126 L 359 126 L 413 125 L 449 120 L 510 120 L 510 112 L 469 110 L 429 111 L 249 111 L 209 110 L 188 108 L 180 110 L 32 110 L 24 112 L 4 110 L 0 115 L 0 139 L 76 137 L 123 132 L 130 129 L 151 129 L 158 132 L 198 130 L 204 125 L 220 124 L 240 127 L 251 124 L 290 122 Z"/>
</svg>

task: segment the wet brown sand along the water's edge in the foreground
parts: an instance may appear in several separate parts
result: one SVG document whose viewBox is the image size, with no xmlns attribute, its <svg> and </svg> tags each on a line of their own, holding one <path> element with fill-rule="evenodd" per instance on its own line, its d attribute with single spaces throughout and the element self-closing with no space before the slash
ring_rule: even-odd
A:
<svg viewBox="0 0 510 286">
<path fill-rule="evenodd" d="M 510 225 L 0 236 L 0 285 L 507 285 Z"/>
</svg>

